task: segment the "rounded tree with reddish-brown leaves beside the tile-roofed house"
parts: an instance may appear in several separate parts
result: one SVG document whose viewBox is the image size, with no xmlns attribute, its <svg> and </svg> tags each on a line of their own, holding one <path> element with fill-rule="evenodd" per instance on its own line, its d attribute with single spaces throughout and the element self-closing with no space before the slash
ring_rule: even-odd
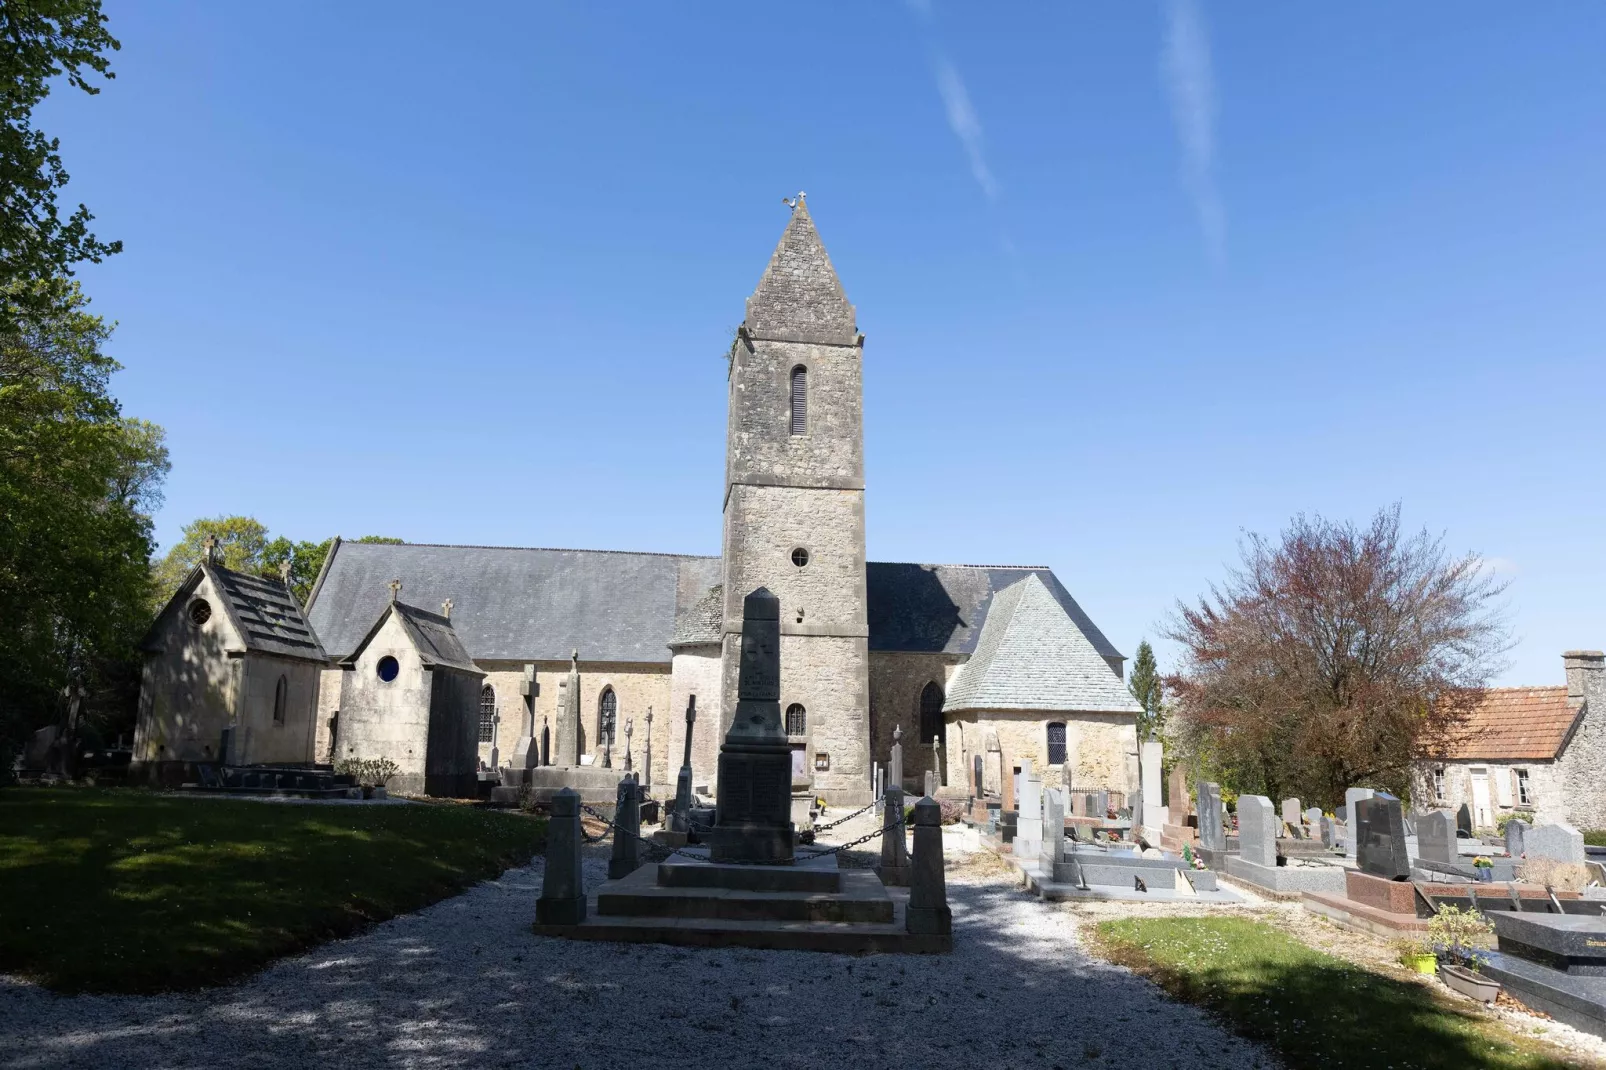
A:
<svg viewBox="0 0 1606 1070">
<path fill-rule="evenodd" d="M 1166 684 L 1184 753 L 1270 798 L 1402 794 L 1412 758 L 1457 734 L 1502 667 L 1505 585 L 1476 554 L 1404 535 L 1397 504 L 1365 527 L 1298 516 L 1240 553 L 1168 628 L 1182 644 Z"/>
</svg>

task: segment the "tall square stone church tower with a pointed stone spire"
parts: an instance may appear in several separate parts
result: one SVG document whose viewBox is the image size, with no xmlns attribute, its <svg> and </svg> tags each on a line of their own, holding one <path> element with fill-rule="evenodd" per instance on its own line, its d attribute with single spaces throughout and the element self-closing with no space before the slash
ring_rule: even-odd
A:
<svg viewBox="0 0 1606 1070">
<path fill-rule="evenodd" d="M 736 707 L 742 599 L 781 599 L 793 784 L 870 797 L 864 593 L 864 336 L 800 193 L 731 345 L 723 692 Z M 729 725 L 721 726 L 721 734 Z"/>
</svg>

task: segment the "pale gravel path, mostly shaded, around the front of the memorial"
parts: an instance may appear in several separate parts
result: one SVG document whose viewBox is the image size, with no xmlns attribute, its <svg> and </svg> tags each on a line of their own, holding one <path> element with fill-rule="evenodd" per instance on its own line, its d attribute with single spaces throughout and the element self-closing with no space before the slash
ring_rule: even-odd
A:
<svg viewBox="0 0 1606 1070">
<path fill-rule="evenodd" d="M 589 848 L 588 884 L 607 852 Z M 541 864 L 196 994 L 0 980 L 0 1067 L 1275 1067 L 1089 959 L 1076 919 L 951 860 L 949 956 L 572 943 Z"/>
</svg>

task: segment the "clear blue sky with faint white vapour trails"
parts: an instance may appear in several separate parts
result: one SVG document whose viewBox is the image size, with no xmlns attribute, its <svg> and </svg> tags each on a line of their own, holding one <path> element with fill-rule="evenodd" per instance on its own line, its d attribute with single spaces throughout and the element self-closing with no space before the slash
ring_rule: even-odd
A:
<svg viewBox="0 0 1606 1070">
<path fill-rule="evenodd" d="M 1131 652 L 1243 530 L 1400 501 L 1510 578 L 1502 683 L 1606 646 L 1606 6 L 106 10 L 40 119 L 164 545 L 718 553 L 806 190 L 872 559 L 1049 564 Z"/>
</svg>

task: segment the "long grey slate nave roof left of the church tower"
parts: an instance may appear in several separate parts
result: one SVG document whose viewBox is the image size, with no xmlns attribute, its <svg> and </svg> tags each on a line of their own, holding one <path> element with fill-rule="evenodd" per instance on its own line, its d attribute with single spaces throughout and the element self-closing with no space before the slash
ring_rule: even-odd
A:
<svg viewBox="0 0 1606 1070">
<path fill-rule="evenodd" d="M 718 557 L 347 543 L 329 548 L 307 617 L 332 657 L 357 649 L 402 580 L 408 602 L 451 599 L 451 627 L 479 660 L 668 662 L 683 607 L 719 582 Z"/>
</svg>

